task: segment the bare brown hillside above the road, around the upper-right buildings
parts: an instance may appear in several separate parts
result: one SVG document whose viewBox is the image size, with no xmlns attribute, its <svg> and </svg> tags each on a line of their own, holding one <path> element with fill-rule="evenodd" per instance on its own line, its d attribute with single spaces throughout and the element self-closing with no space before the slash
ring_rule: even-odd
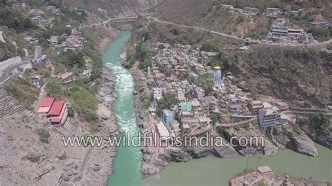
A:
<svg viewBox="0 0 332 186">
<path fill-rule="evenodd" d="M 242 37 L 247 36 L 249 33 L 255 32 L 255 37 L 260 38 L 268 33 L 268 17 L 246 17 L 238 13 L 224 11 L 221 10 L 219 6 L 221 3 L 230 4 L 237 8 L 251 6 L 258 8 L 259 10 L 264 10 L 268 7 L 278 7 L 286 10 L 286 7 L 291 5 L 292 10 L 304 8 L 305 10 L 312 12 L 314 17 L 316 17 L 316 20 L 328 22 L 331 22 L 332 20 L 332 1 L 328 0 L 166 0 L 164 3 L 160 3 L 160 5 L 155 8 L 154 16 L 158 17 L 160 20 L 167 20 L 180 24 L 190 24 Z"/>
</svg>

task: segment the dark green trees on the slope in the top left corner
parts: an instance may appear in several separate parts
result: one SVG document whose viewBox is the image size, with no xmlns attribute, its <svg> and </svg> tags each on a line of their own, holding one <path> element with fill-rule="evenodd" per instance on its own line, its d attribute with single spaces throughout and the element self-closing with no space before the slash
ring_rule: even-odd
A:
<svg viewBox="0 0 332 186">
<path fill-rule="evenodd" d="M 18 32 L 36 29 L 36 26 L 29 18 L 24 17 L 20 11 L 12 8 L 0 8 L 0 25 L 13 28 Z"/>
</svg>

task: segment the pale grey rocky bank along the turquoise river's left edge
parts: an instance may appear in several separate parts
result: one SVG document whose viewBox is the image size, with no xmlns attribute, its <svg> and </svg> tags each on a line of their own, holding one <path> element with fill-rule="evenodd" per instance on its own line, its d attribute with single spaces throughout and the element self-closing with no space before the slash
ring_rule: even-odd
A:
<svg viewBox="0 0 332 186">
<path fill-rule="evenodd" d="M 97 99 L 99 100 L 98 115 L 100 122 L 98 124 L 97 136 L 107 138 L 117 133 L 118 126 L 116 117 L 111 110 L 116 96 L 113 95 L 113 87 L 116 84 L 116 78 L 111 69 L 104 66 L 102 78 L 99 80 L 99 90 Z M 98 147 L 94 148 L 96 152 L 92 153 L 90 158 L 90 169 L 92 171 L 84 174 L 83 185 L 106 185 L 109 176 L 113 171 L 113 160 L 116 157 L 116 147 Z"/>
</svg>

